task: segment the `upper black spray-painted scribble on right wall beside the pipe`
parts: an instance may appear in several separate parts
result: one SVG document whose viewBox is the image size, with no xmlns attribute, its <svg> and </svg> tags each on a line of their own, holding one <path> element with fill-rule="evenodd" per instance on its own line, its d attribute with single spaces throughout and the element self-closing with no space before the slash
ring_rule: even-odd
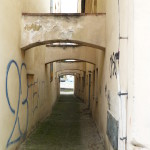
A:
<svg viewBox="0 0 150 150">
<path fill-rule="evenodd" d="M 110 78 L 116 76 L 117 78 L 117 54 L 113 53 L 110 57 Z"/>
</svg>

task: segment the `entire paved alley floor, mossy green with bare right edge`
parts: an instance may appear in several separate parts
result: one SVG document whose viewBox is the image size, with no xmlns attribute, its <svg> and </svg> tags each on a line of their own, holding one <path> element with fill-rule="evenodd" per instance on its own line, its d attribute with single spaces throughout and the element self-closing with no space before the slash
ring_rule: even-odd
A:
<svg viewBox="0 0 150 150">
<path fill-rule="evenodd" d="M 86 106 L 73 95 L 61 95 L 53 113 L 19 150 L 104 150 Z"/>
</svg>

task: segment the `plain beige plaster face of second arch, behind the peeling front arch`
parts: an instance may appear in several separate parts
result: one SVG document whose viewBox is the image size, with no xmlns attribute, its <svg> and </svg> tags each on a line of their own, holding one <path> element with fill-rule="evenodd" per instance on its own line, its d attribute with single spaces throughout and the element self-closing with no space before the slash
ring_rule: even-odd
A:
<svg viewBox="0 0 150 150">
<path fill-rule="evenodd" d="M 47 47 L 45 55 L 45 63 L 57 61 L 57 60 L 66 60 L 66 59 L 75 59 L 81 61 L 96 63 L 96 49 L 86 46 L 77 46 L 77 47 Z"/>
</svg>

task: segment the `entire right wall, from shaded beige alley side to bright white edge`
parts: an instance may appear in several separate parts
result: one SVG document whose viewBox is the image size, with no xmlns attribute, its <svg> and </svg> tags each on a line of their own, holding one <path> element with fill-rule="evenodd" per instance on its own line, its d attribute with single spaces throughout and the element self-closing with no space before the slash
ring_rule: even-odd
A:
<svg viewBox="0 0 150 150">
<path fill-rule="evenodd" d="M 94 12 L 93 1 L 86 3 L 87 11 Z M 149 149 L 149 1 L 97 1 L 97 12 L 106 12 L 106 52 L 97 53 L 98 103 L 92 108 L 99 132 L 103 134 L 105 149 L 113 149 L 106 135 L 107 111 L 119 121 L 119 138 L 127 136 L 126 149 Z M 106 7 L 106 8 L 105 8 Z M 133 19 L 134 18 L 134 19 Z M 119 32 L 121 39 L 119 42 Z M 118 46 L 119 45 L 119 46 Z M 144 51 L 142 51 L 144 49 Z M 110 58 L 120 51 L 115 61 L 116 73 L 110 78 Z M 144 79 L 143 79 L 144 77 Z M 96 85 L 95 85 L 96 86 Z M 118 96 L 118 92 L 127 96 Z M 110 105 L 110 108 L 109 108 Z M 123 116 L 121 116 L 123 114 Z M 122 127 L 123 124 L 123 127 Z M 127 126 L 126 126 L 127 125 Z M 127 131 L 126 131 L 127 130 Z M 121 134 L 123 132 L 123 135 Z M 127 134 L 126 134 L 127 132 Z M 124 142 L 119 139 L 119 149 Z"/>
</svg>

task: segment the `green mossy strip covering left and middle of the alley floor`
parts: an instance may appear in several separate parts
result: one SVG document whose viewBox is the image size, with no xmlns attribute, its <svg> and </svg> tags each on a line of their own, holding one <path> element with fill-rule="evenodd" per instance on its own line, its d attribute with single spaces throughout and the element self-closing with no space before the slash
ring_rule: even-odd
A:
<svg viewBox="0 0 150 150">
<path fill-rule="evenodd" d="M 80 104 L 73 96 L 61 96 L 53 113 L 24 143 L 27 150 L 73 149 L 80 142 Z"/>
</svg>

